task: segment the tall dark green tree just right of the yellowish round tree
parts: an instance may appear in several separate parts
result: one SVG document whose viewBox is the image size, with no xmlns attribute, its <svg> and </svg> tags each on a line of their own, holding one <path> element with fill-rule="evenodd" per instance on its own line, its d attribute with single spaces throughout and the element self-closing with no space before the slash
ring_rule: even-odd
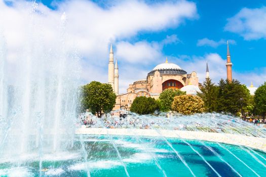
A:
<svg viewBox="0 0 266 177">
<path fill-rule="evenodd" d="M 200 86 L 201 93 L 197 95 L 202 98 L 205 110 L 213 112 L 217 109 L 218 87 L 211 82 L 210 78 L 206 78 L 203 85 Z"/>
</svg>

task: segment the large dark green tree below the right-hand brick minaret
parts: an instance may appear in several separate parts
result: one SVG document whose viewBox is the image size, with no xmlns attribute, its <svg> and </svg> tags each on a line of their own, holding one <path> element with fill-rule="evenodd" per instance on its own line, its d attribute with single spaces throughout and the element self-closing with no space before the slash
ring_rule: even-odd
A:
<svg viewBox="0 0 266 177">
<path fill-rule="evenodd" d="M 217 111 L 237 114 L 241 107 L 246 110 L 250 102 L 251 95 L 246 85 L 238 80 L 221 79 L 218 86 Z"/>
</svg>

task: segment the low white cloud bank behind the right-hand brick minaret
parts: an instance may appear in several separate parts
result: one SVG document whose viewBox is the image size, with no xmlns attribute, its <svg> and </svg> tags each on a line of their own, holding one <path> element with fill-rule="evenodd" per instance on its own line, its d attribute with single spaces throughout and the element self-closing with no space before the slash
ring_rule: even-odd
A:
<svg viewBox="0 0 266 177">
<path fill-rule="evenodd" d="M 218 84 L 221 78 L 226 79 L 226 59 L 222 59 L 219 54 L 210 53 L 205 56 L 185 56 L 182 55 L 178 58 L 170 58 L 182 69 L 191 73 L 196 71 L 199 77 L 199 82 L 203 82 L 206 77 L 206 62 L 210 72 L 210 78 L 213 82 Z M 254 86 L 259 86 L 266 81 L 266 68 L 258 68 L 249 72 L 238 72 L 234 70 L 233 65 L 233 78 L 239 80 L 242 84 L 250 86 L 253 82 Z"/>
</svg>

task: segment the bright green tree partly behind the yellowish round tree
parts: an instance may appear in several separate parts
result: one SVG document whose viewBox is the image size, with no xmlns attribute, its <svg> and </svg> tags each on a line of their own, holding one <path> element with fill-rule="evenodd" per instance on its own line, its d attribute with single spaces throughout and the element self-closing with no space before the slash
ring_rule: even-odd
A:
<svg viewBox="0 0 266 177">
<path fill-rule="evenodd" d="M 178 95 L 185 95 L 185 92 L 173 89 L 166 89 L 164 90 L 158 99 L 158 102 L 160 104 L 160 110 L 163 112 L 167 112 L 172 110 L 171 106 L 174 101 L 174 97 Z"/>
</svg>

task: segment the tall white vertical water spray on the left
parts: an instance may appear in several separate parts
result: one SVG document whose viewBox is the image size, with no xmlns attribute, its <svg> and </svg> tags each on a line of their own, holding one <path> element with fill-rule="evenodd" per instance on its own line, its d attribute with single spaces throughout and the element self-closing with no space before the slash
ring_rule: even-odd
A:
<svg viewBox="0 0 266 177">
<path fill-rule="evenodd" d="M 65 151 L 72 144 L 81 67 L 65 42 L 65 14 L 53 31 L 60 40 L 47 41 L 38 8 L 33 3 L 28 9 L 26 41 L 17 49 L 13 72 L 5 71 L 14 63 L 5 57 L 0 35 L 0 154 L 36 153 L 42 161 L 44 153 Z"/>
</svg>

